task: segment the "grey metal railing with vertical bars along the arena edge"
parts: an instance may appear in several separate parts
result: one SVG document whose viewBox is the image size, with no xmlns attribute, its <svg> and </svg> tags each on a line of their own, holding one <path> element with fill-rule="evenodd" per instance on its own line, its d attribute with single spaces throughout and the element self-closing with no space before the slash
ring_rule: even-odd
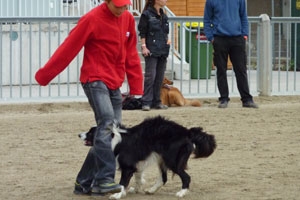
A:
<svg viewBox="0 0 300 200">
<path fill-rule="evenodd" d="M 138 22 L 139 17 L 135 18 Z M 35 72 L 47 62 L 78 19 L 0 18 L 0 102 L 85 99 L 78 82 L 82 52 L 50 85 L 41 87 L 34 79 Z M 201 26 L 190 29 L 186 24 L 200 24 L 202 20 L 202 17 L 170 17 L 172 45 L 167 69 L 175 86 L 186 97 L 218 96 L 211 44 L 201 40 Z M 300 94 L 300 59 L 297 59 L 300 52 L 299 45 L 295 45 L 299 44 L 299 23 L 300 18 L 272 18 L 266 23 L 262 17 L 249 18 L 247 66 L 252 95 Z M 267 31 L 266 27 L 269 27 Z M 230 96 L 239 96 L 235 75 L 230 69 L 228 82 Z M 126 81 L 121 90 L 128 90 Z"/>
</svg>

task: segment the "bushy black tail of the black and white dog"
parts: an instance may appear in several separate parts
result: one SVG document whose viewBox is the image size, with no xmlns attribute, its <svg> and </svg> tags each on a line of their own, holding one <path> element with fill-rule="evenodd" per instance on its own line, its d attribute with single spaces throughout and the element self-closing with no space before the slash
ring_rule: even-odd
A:
<svg viewBox="0 0 300 200">
<path fill-rule="evenodd" d="M 191 128 L 191 139 L 195 144 L 195 158 L 210 156 L 217 147 L 215 136 L 203 132 L 202 128 Z"/>
</svg>

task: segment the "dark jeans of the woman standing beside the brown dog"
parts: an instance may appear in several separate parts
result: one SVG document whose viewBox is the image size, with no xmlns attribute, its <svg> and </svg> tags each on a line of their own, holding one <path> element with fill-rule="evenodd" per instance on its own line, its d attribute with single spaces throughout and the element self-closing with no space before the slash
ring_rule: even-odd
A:
<svg viewBox="0 0 300 200">
<path fill-rule="evenodd" d="M 156 106 L 161 103 L 160 90 L 166 71 L 167 58 L 145 57 L 144 95 L 142 104 Z"/>
</svg>

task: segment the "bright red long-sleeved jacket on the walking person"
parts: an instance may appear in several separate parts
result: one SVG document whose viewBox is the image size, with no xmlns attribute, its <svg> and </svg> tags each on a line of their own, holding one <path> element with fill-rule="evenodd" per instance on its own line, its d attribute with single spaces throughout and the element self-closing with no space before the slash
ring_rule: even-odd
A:
<svg viewBox="0 0 300 200">
<path fill-rule="evenodd" d="M 143 74 L 136 49 L 135 20 L 129 11 L 116 17 L 106 3 L 80 18 L 35 79 L 47 85 L 84 47 L 80 82 L 103 81 L 109 89 L 122 86 L 127 75 L 130 94 L 143 94 Z"/>
</svg>

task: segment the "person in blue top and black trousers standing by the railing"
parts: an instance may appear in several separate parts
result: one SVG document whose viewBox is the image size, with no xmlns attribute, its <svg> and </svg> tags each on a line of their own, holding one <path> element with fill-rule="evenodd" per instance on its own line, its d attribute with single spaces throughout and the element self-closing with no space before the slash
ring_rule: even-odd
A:
<svg viewBox="0 0 300 200">
<path fill-rule="evenodd" d="M 207 0 L 204 9 L 204 32 L 213 44 L 219 108 L 229 102 L 227 82 L 228 56 L 232 62 L 243 107 L 258 108 L 249 92 L 247 78 L 246 40 L 248 17 L 245 0 Z"/>
</svg>

